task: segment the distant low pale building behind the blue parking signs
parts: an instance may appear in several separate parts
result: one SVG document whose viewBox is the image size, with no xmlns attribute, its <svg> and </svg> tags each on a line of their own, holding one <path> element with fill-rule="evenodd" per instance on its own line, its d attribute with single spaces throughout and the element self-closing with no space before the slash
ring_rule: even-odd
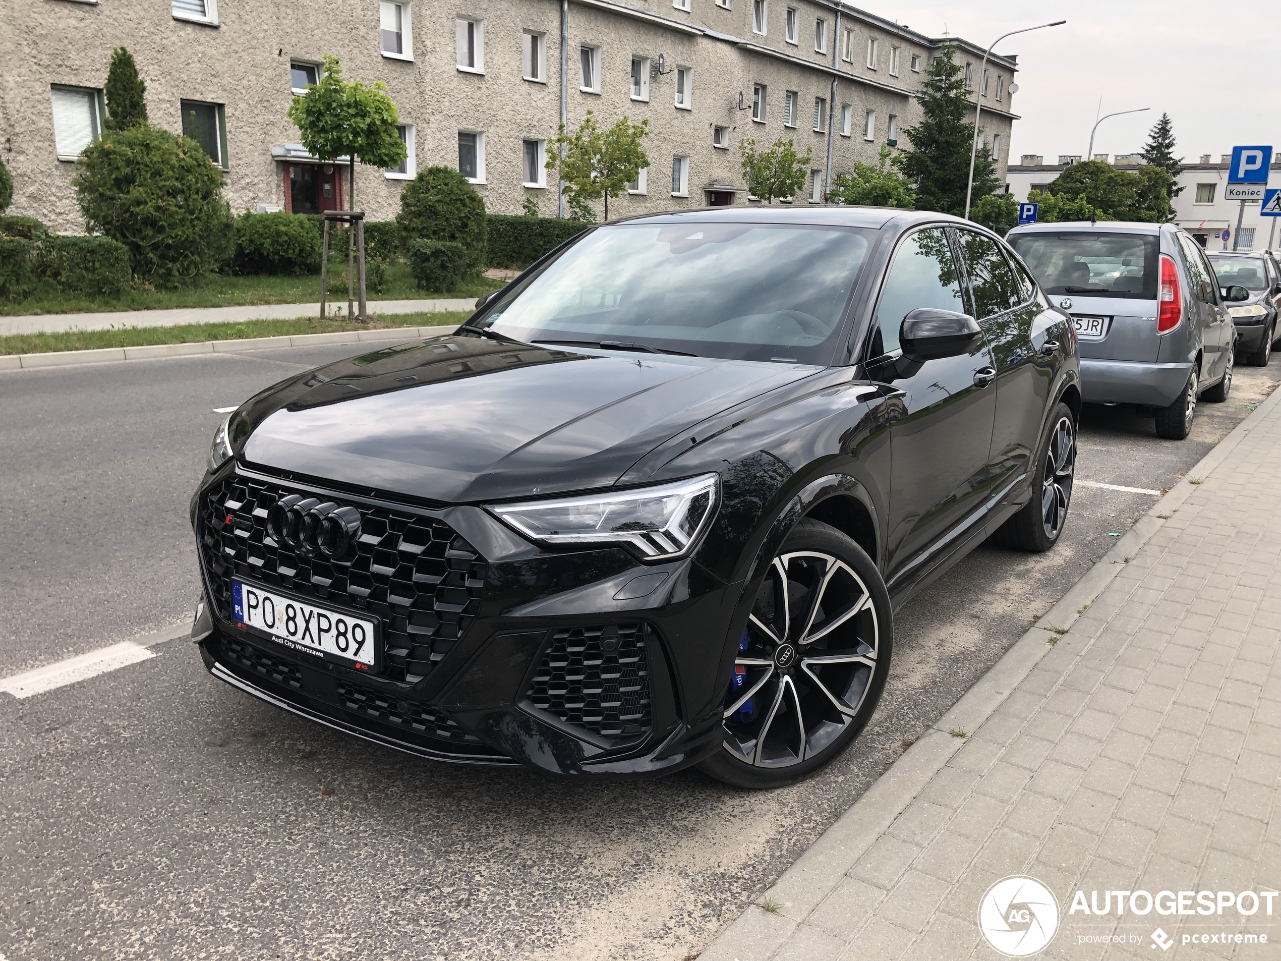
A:
<svg viewBox="0 0 1281 961">
<path fill-rule="evenodd" d="M 1108 154 L 1095 154 L 1095 160 L 1108 161 Z M 1025 154 L 1020 163 L 1011 164 L 1006 173 L 1006 190 L 1020 202 L 1027 199 L 1030 191 L 1044 192 L 1068 164 L 1080 160 L 1077 155 L 1061 154 L 1058 163 L 1047 164 L 1045 158 Z M 1193 234 L 1203 247 L 1212 250 L 1263 250 L 1277 242 L 1277 217 L 1262 217 L 1259 202 L 1246 202 L 1244 209 L 1239 200 L 1223 200 L 1223 185 L 1227 183 L 1227 169 L 1231 154 L 1220 154 L 1218 160 L 1212 154 L 1202 154 L 1196 163 L 1185 163 L 1177 177 L 1182 191 L 1173 200 L 1175 223 Z M 1120 170 L 1136 170 L 1138 154 L 1117 154 L 1111 160 Z M 1281 159 L 1272 163 L 1268 170 L 1268 186 L 1281 187 Z M 1223 241 L 1223 231 L 1237 234 L 1237 217 L 1241 231 L 1232 240 Z"/>
</svg>

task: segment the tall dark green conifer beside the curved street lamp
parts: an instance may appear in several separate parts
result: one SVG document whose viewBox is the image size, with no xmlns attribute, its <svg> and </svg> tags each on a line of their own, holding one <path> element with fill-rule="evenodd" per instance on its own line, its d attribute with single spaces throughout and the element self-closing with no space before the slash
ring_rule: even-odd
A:
<svg viewBox="0 0 1281 961">
<path fill-rule="evenodd" d="M 911 146 L 894 158 L 895 167 L 915 186 L 917 210 L 965 214 L 974 144 L 974 120 L 967 118 L 974 104 L 962 74 L 956 63 L 956 45 L 944 45 L 934 55 L 917 94 L 921 122 L 903 131 Z M 995 193 L 999 186 L 991 154 L 983 146 L 974 160 L 974 196 Z"/>
</svg>

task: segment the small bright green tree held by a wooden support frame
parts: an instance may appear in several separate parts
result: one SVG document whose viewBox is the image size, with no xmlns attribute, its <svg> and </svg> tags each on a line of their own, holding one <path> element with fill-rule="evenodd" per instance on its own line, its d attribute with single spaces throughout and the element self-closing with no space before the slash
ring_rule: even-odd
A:
<svg viewBox="0 0 1281 961">
<path fill-rule="evenodd" d="M 337 56 L 325 56 L 320 82 L 293 97 L 287 115 L 298 128 L 302 146 L 322 160 L 351 158 L 347 209 L 356 209 L 356 160 L 373 167 L 397 167 L 405 159 L 405 144 L 397 124 L 396 103 L 387 85 L 374 81 L 345 81 Z"/>
</svg>

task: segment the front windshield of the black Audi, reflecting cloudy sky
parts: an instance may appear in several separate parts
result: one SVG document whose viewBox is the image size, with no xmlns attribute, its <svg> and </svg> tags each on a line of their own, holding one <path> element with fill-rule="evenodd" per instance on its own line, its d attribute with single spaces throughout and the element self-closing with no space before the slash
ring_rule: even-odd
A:
<svg viewBox="0 0 1281 961">
<path fill-rule="evenodd" d="M 514 284 L 473 325 L 525 342 L 825 365 L 872 233 L 602 227 Z"/>
</svg>

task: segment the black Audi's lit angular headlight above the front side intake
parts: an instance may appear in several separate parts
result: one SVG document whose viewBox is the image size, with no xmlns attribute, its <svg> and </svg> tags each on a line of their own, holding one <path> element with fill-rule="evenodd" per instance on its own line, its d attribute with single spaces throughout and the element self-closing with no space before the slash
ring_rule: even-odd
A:
<svg viewBox="0 0 1281 961">
<path fill-rule="evenodd" d="M 716 507 L 717 474 L 617 491 L 491 505 L 501 520 L 547 545 L 616 543 L 644 560 L 680 557 L 698 541 Z"/>
</svg>

